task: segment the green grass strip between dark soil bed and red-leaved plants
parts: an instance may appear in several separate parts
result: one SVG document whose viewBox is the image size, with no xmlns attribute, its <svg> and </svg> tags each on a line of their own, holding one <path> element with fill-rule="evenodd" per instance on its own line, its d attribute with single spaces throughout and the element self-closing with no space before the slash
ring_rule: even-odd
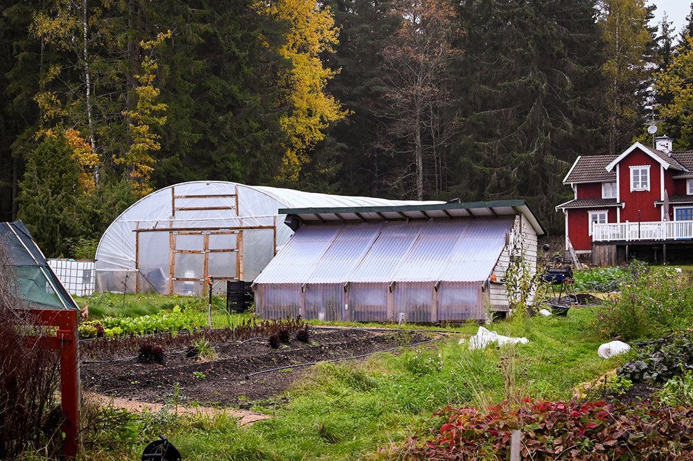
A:
<svg viewBox="0 0 693 461">
<path fill-rule="evenodd" d="M 460 335 L 403 348 L 356 363 L 322 363 L 274 401 L 256 410 L 274 418 L 240 427 L 233 419 L 146 415 L 136 422 L 134 444 L 116 443 L 87 458 L 132 460 L 148 440 L 164 433 L 185 460 L 356 460 L 390 442 L 423 435 L 444 406 L 498 403 L 513 395 L 570 399 L 574 386 L 604 375 L 624 358 L 597 356 L 602 341 L 593 334 L 590 309 L 568 318 L 527 318 L 490 329 L 529 338 L 526 345 L 467 350 Z M 460 327 L 475 332 L 477 325 Z M 517 386 L 508 387 L 498 367 L 511 357 Z M 262 386 L 253 381 L 252 386 Z"/>
</svg>

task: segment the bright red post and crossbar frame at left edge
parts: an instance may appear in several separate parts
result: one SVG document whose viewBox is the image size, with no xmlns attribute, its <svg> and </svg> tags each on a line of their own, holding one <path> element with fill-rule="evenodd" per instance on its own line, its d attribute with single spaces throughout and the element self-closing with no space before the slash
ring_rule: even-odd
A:
<svg viewBox="0 0 693 461">
<path fill-rule="evenodd" d="M 75 458 L 79 433 L 79 370 L 77 362 L 77 311 L 73 309 L 31 309 L 34 325 L 58 327 L 55 336 L 27 336 L 26 341 L 45 349 L 60 350 L 60 395 L 62 398 L 62 451 Z"/>
</svg>

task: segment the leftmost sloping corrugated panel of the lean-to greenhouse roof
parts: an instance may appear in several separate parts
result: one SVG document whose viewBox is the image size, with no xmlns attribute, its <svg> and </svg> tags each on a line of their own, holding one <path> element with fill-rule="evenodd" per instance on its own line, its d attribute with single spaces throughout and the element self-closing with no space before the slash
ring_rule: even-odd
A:
<svg viewBox="0 0 693 461">
<path fill-rule="evenodd" d="M 255 282 L 306 283 L 315 266 L 342 230 L 338 226 L 305 226 L 295 233 L 289 244 L 277 253 L 272 263 L 258 275 Z"/>
</svg>

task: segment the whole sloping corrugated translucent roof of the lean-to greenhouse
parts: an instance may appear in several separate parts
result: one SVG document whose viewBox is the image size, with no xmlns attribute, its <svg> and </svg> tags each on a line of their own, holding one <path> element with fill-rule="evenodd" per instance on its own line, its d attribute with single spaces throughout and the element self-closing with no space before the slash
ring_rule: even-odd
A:
<svg viewBox="0 0 693 461">
<path fill-rule="evenodd" d="M 255 283 L 483 282 L 513 224 L 510 215 L 307 224 Z"/>
</svg>

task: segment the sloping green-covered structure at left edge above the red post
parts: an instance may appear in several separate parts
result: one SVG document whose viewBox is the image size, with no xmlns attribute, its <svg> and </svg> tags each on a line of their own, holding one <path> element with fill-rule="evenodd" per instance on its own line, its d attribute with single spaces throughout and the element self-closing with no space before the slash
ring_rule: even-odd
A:
<svg viewBox="0 0 693 461">
<path fill-rule="evenodd" d="M 32 309 L 78 309 L 21 221 L 0 223 L 0 242 L 17 275 L 19 295 Z"/>
</svg>

